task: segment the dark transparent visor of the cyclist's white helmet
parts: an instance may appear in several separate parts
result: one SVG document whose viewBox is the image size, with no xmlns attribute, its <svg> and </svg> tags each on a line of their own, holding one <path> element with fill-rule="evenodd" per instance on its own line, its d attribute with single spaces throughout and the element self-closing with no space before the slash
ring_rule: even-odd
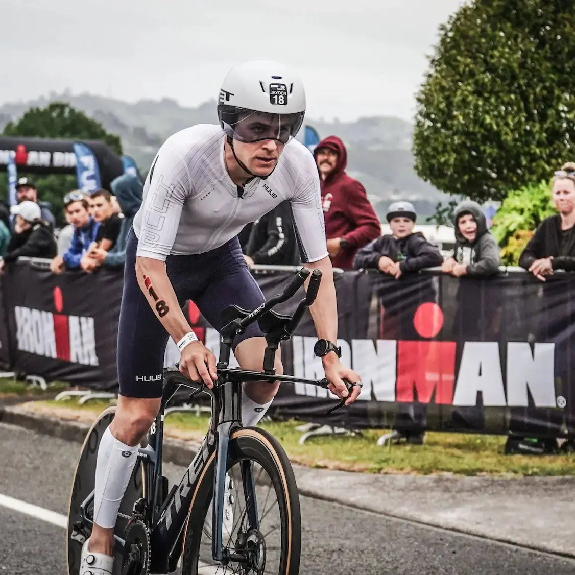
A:
<svg viewBox="0 0 575 575">
<path fill-rule="evenodd" d="M 304 112 L 272 114 L 232 106 L 218 106 L 218 116 L 228 136 L 246 143 L 277 140 L 287 144 L 304 121 Z"/>
</svg>

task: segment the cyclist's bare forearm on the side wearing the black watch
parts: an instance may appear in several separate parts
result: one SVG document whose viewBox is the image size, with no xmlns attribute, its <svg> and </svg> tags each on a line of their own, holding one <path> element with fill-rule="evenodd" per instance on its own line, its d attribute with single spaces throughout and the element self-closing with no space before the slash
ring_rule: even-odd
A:
<svg viewBox="0 0 575 575">
<path fill-rule="evenodd" d="M 313 324 L 316 327 L 319 339 L 328 339 L 330 342 L 338 341 L 338 304 L 333 284 L 333 267 L 329 257 L 320 259 L 318 262 L 304 263 L 308 270 L 321 271 L 320 289 L 316 301 L 310 306 Z M 309 280 L 308 280 L 309 281 Z M 306 286 L 307 287 L 307 286 Z M 321 358 L 324 364 L 338 359 L 334 352 L 329 352 Z"/>
</svg>

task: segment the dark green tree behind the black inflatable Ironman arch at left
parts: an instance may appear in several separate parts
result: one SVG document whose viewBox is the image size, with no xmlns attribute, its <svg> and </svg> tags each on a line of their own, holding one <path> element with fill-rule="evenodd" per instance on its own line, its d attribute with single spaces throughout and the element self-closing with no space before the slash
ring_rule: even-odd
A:
<svg viewBox="0 0 575 575">
<path fill-rule="evenodd" d="M 6 124 L 2 133 L 4 136 L 101 140 L 116 154 L 122 154 L 119 136 L 106 132 L 102 124 L 65 102 L 52 102 L 46 108 L 30 108 L 18 121 Z M 18 172 L 18 176 L 21 175 L 26 174 Z M 38 177 L 32 174 L 30 177 L 36 182 L 39 200 L 50 202 L 57 222 L 63 224 L 63 197 L 77 186 L 75 176 L 51 174 Z M 0 178 L 0 197 L 6 198 L 5 178 Z"/>
</svg>

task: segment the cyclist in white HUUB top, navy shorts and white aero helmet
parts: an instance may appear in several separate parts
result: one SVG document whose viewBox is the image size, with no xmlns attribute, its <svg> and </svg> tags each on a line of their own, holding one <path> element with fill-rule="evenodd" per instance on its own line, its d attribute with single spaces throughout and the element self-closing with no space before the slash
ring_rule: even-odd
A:
<svg viewBox="0 0 575 575">
<path fill-rule="evenodd" d="M 137 459 L 162 396 L 164 349 L 177 343 L 180 371 L 208 387 L 216 380 L 216 358 L 198 341 L 181 311 L 192 300 L 214 328 L 221 311 L 236 304 L 253 309 L 264 298 L 244 261 L 237 233 L 288 200 L 303 265 L 323 273 L 310 307 L 320 338 L 325 377 L 347 404 L 359 375 L 344 366 L 336 347 L 338 325 L 332 265 L 321 210 L 320 182 L 313 156 L 293 140 L 304 120 L 301 79 L 276 62 L 232 68 L 218 106 L 220 125 L 196 125 L 160 147 L 143 191 L 126 248 L 124 290 L 118 327 L 116 415 L 97 455 L 94 527 L 82 549 L 81 575 L 112 573 L 113 528 Z M 266 340 L 257 323 L 236 338 L 243 369 L 262 369 Z M 283 373 L 279 350 L 275 361 Z M 241 416 L 255 425 L 269 408 L 278 384 L 244 385 Z"/>
</svg>

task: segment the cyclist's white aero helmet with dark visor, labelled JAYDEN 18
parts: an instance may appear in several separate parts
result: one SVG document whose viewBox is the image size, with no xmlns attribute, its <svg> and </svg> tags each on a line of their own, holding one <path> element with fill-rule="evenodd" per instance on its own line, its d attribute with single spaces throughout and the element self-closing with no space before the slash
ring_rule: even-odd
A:
<svg viewBox="0 0 575 575">
<path fill-rule="evenodd" d="M 304 114 L 304 85 L 283 64 L 254 60 L 239 64 L 225 76 L 217 115 L 233 140 L 287 144 L 301 128 Z"/>
</svg>

